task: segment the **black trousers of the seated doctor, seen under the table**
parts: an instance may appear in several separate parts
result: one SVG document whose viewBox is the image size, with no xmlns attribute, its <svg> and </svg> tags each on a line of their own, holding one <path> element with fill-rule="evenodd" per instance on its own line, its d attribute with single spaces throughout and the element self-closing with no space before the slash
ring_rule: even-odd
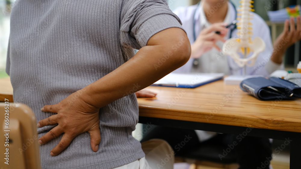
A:
<svg viewBox="0 0 301 169">
<path fill-rule="evenodd" d="M 144 134 L 141 142 L 153 138 L 166 140 L 175 151 L 175 155 L 179 156 L 202 144 L 194 130 L 183 128 L 154 126 Z M 181 145 L 183 141 L 185 146 Z M 228 148 L 228 145 L 237 143 L 231 153 L 234 153 L 237 157 L 237 163 L 240 165 L 239 169 L 258 169 L 257 167 L 259 169 L 269 169 L 269 162 L 272 159 L 272 146 L 267 138 L 217 134 L 215 137 L 206 140 L 206 142 L 221 144 L 225 149 Z"/>
</svg>

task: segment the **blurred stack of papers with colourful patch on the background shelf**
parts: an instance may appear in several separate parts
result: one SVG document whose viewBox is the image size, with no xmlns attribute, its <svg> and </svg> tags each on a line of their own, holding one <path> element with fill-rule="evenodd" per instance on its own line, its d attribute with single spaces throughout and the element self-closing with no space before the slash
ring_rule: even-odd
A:
<svg viewBox="0 0 301 169">
<path fill-rule="evenodd" d="M 296 17 L 300 15 L 300 5 L 293 5 L 278 11 L 268 11 L 268 17 L 272 22 L 284 22 L 290 17 Z"/>
</svg>

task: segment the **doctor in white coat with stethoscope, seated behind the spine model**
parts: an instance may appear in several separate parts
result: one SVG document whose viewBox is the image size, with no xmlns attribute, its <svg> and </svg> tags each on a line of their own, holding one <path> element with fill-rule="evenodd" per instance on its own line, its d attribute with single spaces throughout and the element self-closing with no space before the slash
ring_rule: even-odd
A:
<svg viewBox="0 0 301 169">
<path fill-rule="evenodd" d="M 181 19 L 191 43 L 191 59 L 174 72 L 225 73 L 226 75 L 241 75 L 242 68 L 230 56 L 221 52 L 223 42 L 228 38 L 237 38 L 237 29 L 225 26 L 237 18 L 234 5 L 228 0 L 202 0 L 197 5 L 177 8 L 175 14 Z M 297 18 L 297 28 L 294 19 L 285 22 L 284 32 L 277 38 L 273 46 L 270 29 L 265 21 L 256 13 L 251 12 L 253 37 L 260 37 L 266 44 L 265 51 L 259 54 L 256 64 L 247 67 L 247 75 L 263 75 L 268 77 L 272 72 L 284 69 L 282 58 L 289 46 L 301 38 L 301 21 Z M 291 25 L 291 30 L 289 30 Z M 220 31 L 218 35 L 215 31 Z"/>
</svg>

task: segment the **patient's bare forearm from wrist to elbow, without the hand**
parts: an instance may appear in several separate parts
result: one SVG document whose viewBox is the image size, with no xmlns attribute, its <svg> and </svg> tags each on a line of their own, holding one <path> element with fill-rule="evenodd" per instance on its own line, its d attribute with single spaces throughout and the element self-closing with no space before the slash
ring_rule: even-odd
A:
<svg viewBox="0 0 301 169">
<path fill-rule="evenodd" d="M 186 35 L 185 37 L 187 38 Z M 82 89 L 83 97 L 90 104 L 103 107 L 151 85 L 188 61 L 190 44 L 188 39 L 185 41 L 176 52 L 172 50 L 171 44 L 150 44 L 142 47 L 132 59 Z M 164 57 L 169 52 L 172 54 Z M 158 64 L 159 60 L 162 65 Z"/>
</svg>

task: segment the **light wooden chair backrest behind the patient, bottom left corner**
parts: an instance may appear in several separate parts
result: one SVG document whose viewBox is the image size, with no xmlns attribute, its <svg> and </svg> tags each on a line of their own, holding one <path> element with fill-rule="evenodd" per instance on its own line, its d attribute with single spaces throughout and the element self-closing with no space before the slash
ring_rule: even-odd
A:
<svg viewBox="0 0 301 169">
<path fill-rule="evenodd" d="M 36 118 L 32 110 L 10 100 L 0 103 L 1 169 L 40 169 Z"/>
</svg>

